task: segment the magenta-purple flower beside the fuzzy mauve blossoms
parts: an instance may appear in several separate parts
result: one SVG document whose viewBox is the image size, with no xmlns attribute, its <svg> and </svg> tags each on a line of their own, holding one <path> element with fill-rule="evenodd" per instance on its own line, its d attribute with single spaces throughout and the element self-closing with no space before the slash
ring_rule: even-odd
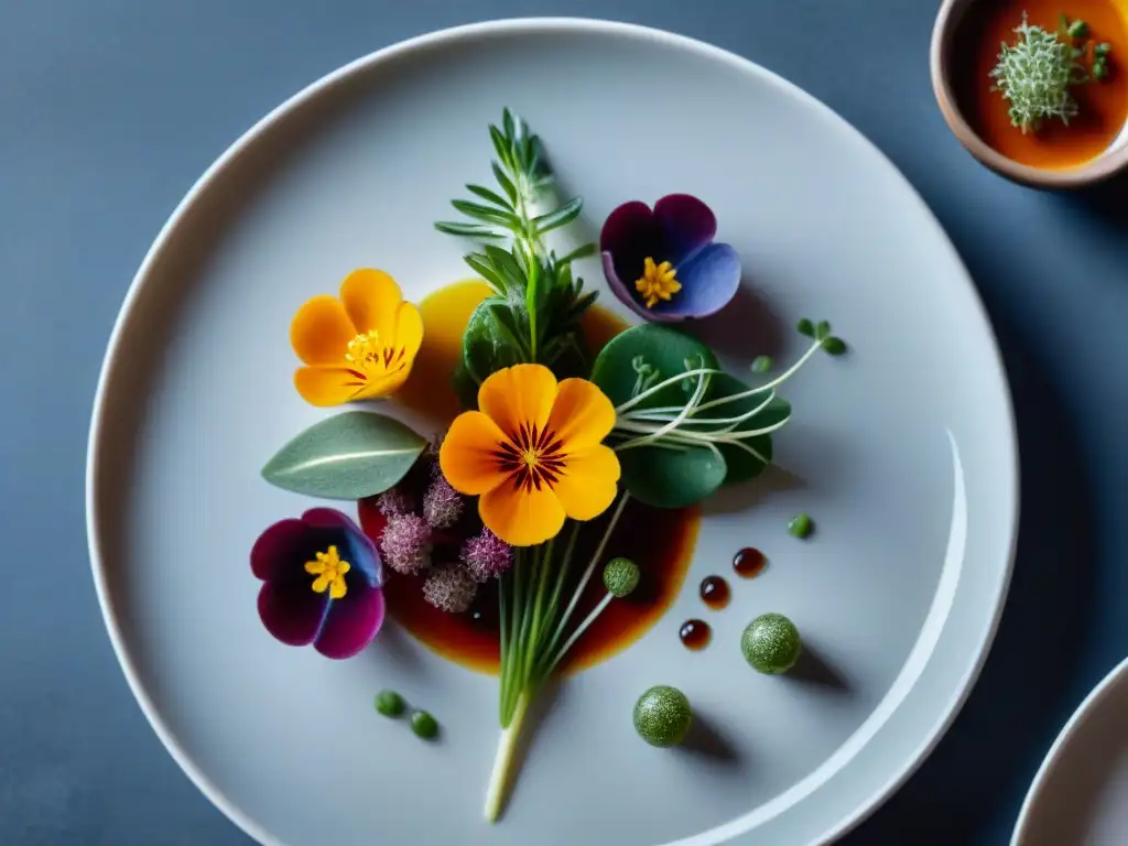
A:
<svg viewBox="0 0 1128 846">
<path fill-rule="evenodd" d="M 258 536 L 250 570 L 264 584 L 258 616 L 290 646 L 352 658 L 384 623 L 384 566 L 376 545 L 347 515 L 310 509 Z"/>
</svg>

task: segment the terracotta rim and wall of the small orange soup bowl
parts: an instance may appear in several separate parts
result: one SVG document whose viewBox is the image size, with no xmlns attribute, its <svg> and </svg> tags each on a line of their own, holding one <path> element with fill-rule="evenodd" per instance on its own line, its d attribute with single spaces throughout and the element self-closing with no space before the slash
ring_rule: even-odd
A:
<svg viewBox="0 0 1128 846">
<path fill-rule="evenodd" d="M 980 162 L 1013 182 L 1036 188 L 1075 190 L 1105 182 L 1128 169 L 1128 138 L 1125 133 L 1103 153 L 1075 168 L 1050 170 L 1022 165 L 989 147 L 960 112 L 953 89 L 953 44 L 968 8 L 993 0 L 944 0 L 932 30 L 932 87 L 944 120 L 960 142 Z"/>
</svg>

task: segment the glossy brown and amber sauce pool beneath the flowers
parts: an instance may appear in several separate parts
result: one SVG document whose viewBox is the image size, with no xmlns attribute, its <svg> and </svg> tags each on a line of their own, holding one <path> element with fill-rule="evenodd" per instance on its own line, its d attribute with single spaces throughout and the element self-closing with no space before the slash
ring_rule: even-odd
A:
<svg viewBox="0 0 1128 846">
<path fill-rule="evenodd" d="M 474 308 L 488 289 L 482 282 L 460 282 L 435 291 L 418 303 L 423 317 L 424 342 L 420 359 L 397 402 L 446 429 L 458 413 L 458 403 L 449 389 L 455 362 L 460 355 L 461 336 Z M 627 327 L 617 316 L 598 306 L 582 320 L 584 335 L 593 352 Z M 361 525 L 369 537 L 384 530 L 384 515 L 372 501 L 358 503 Z M 573 567 L 579 573 L 598 543 L 609 513 L 592 521 L 576 547 Z M 565 670 L 580 670 L 603 661 L 642 637 L 666 613 L 681 591 L 689 569 L 700 511 L 696 506 L 658 510 L 629 502 L 611 536 L 603 561 L 623 555 L 642 571 L 638 588 L 626 599 L 614 600 L 581 637 L 564 660 Z M 587 544 L 587 556 L 584 545 Z M 601 569 L 597 569 L 572 616 L 579 623 L 606 593 Z M 500 658 L 497 625 L 497 584 L 483 585 L 470 610 L 447 614 L 423 599 L 422 576 L 389 572 L 384 589 L 389 616 L 424 645 L 443 658 L 481 672 L 496 673 Z"/>
</svg>

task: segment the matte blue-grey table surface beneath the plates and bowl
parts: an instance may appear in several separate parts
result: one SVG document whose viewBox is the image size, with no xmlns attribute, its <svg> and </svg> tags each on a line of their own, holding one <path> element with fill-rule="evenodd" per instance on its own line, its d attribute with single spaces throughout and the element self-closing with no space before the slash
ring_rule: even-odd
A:
<svg viewBox="0 0 1128 846">
<path fill-rule="evenodd" d="M 0 2 L 0 844 L 249 843 L 149 729 L 95 601 L 83 465 L 114 317 L 196 177 L 291 94 L 408 36 L 549 14 L 678 30 L 796 82 L 892 158 L 971 270 L 1019 418 L 1013 587 L 959 720 L 846 841 L 1006 843 L 1058 729 L 1128 653 L 1128 192 L 1039 194 L 967 156 L 929 86 L 935 11 L 925 0 Z M 889 246 L 873 244 L 874 261 Z"/>
</svg>

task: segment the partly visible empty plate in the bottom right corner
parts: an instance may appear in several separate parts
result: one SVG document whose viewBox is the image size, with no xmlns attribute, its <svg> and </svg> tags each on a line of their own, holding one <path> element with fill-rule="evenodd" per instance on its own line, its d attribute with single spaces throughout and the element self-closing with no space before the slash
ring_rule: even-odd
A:
<svg viewBox="0 0 1128 846">
<path fill-rule="evenodd" d="M 1011 846 L 1128 843 L 1128 659 L 1081 703 L 1038 768 Z"/>
</svg>

